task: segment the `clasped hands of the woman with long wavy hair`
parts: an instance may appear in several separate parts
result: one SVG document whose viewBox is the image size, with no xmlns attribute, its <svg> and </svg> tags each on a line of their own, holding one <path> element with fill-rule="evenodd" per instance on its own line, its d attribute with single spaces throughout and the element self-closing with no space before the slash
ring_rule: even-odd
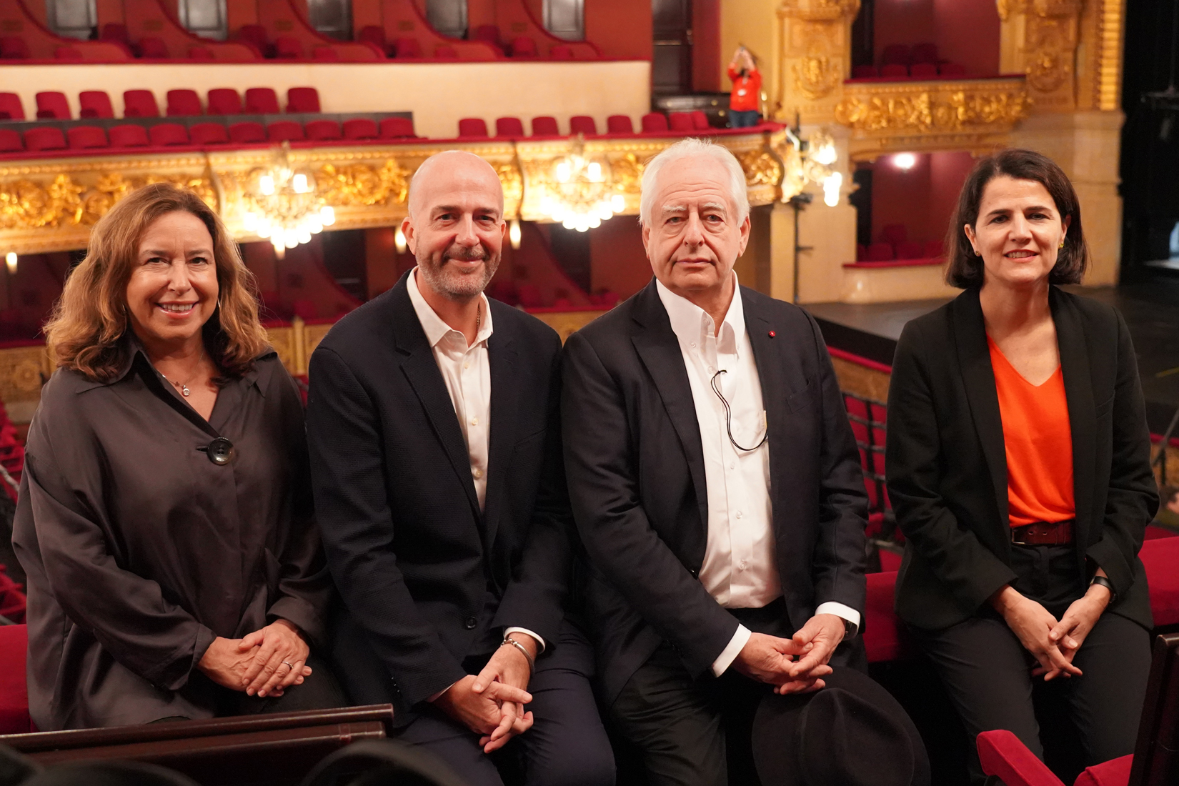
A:
<svg viewBox="0 0 1179 786">
<path fill-rule="evenodd" d="M 276 699 L 311 676 L 305 666 L 310 652 L 298 626 L 276 620 L 242 639 L 217 636 L 197 668 L 231 691 Z"/>
</svg>

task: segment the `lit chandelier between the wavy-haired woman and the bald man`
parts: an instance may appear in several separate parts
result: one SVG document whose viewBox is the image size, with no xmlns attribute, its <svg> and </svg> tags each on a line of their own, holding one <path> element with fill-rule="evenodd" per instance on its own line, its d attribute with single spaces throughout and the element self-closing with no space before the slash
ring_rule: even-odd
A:
<svg viewBox="0 0 1179 786">
<path fill-rule="evenodd" d="M 312 235 L 336 223 L 336 211 L 317 193 L 315 174 L 290 163 L 290 144 L 276 147 L 269 167 L 246 174 L 243 225 L 275 246 L 282 259 L 286 249 L 309 243 Z"/>
</svg>

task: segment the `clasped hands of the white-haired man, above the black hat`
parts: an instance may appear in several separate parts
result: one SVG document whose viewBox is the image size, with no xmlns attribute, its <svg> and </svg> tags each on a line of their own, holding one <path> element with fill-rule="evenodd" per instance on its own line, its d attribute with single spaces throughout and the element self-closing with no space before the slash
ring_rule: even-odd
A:
<svg viewBox="0 0 1179 786">
<path fill-rule="evenodd" d="M 843 641 L 844 629 L 842 617 L 816 614 L 790 639 L 753 633 L 732 666 L 750 679 L 772 685 L 782 695 L 818 691 L 826 685 L 823 678 L 834 671 L 828 661 Z"/>
</svg>

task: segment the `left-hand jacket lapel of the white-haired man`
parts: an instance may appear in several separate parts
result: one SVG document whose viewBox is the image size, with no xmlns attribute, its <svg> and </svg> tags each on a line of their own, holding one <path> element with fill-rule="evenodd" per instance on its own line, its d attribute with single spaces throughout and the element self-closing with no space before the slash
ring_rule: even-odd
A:
<svg viewBox="0 0 1179 786">
<path fill-rule="evenodd" d="M 679 341 L 671 329 L 667 310 L 659 300 L 656 282 L 651 283 L 635 296 L 634 321 L 640 325 L 631 342 L 634 344 L 643 365 L 656 383 L 659 397 L 663 399 L 667 417 L 671 418 L 676 434 L 679 436 L 684 456 L 687 458 L 689 471 L 692 474 L 692 486 L 696 488 L 696 501 L 700 509 L 700 523 L 709 524 L 709 494 L 704 477 L 704 448 L 700 442 L 700 424 L 696 420 L 696 402 L 692 399 L 692 385 L 684 368 L 684 355 Z"/>
</svg>

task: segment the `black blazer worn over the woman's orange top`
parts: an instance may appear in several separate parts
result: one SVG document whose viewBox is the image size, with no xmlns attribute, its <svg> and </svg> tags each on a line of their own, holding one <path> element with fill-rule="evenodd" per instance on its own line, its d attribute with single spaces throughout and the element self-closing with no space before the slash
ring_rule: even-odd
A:
<svg viewBox="0 0 1179 786">
<path fill-rule="evenodd" d="M 1118 595 L 1109 610 L 1151 627 L 1138 548 L 1158 495 L 1129 332 L 1096 300 L 1053 286 L 1048 303 L 1073 432 L 1078 566 L 1089 557 L 1105 568 Z M 884 465 L 907 539 L 896 612 L 923 629 L 956 625 L 1015 579 L 1003 428 L 979 290 L 904 326 Z"/>
</svg>

